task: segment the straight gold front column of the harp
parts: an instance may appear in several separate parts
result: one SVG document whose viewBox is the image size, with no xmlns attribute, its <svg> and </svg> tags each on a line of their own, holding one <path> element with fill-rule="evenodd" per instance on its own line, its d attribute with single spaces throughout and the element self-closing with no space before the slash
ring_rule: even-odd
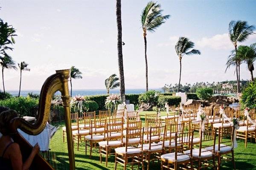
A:
<svg viewBox="0 0 256 170">
<path fill-rule="evenodd" d="M 61 75 L 61 80 L 64 82 L 62 91 L 61 91 L 61 99 L 62 105 L 65 111 L 65 125 L 66 125 L 66 133 L 67 133 L 67 149 L 70 163 L 70 170 L 75 170 L 75 156 L 74 156 L 74 147 L 73 147 L 73 138 L 72 138 L 72 129 L 71 129 L 71 116 L 70 116 L 70 95 L 68 90 L 68 78 L 70 76 L 70 71 Z"/>
</svg>

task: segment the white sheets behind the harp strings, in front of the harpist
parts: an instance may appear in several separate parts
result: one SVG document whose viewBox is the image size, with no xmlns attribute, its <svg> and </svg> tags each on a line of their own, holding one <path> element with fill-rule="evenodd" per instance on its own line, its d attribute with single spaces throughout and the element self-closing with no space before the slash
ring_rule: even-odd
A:
<svg viewBox="0 0 256 170">
<path fill-rule="evenodd" d="M 32 146 L 36 143 L 39 144 L 41 151 L 49 150 L 49 142 L 53 134 L 56 132 L 57 128 L 55 126 L 50 125 L 47 122 L 46 127 L 39 135 L 28 135 L 22 130 L 18 129 L 18 132 L 25 138 Z"/>
</svg>

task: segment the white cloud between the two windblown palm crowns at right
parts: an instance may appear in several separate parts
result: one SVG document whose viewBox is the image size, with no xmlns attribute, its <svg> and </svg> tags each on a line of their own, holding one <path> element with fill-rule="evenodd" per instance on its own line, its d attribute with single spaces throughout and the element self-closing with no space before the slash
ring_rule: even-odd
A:
<svg viewBox="0 0 256 170">
<path fill-rule="evenodd" d="M 233 48 L 233 44 L 230 42 L 230 38 L 227 33 L 216 34 L 212 37 L 203 37 L 195 44 L 201 48 L 209 47 L 215 50 Z"/>
</svg>

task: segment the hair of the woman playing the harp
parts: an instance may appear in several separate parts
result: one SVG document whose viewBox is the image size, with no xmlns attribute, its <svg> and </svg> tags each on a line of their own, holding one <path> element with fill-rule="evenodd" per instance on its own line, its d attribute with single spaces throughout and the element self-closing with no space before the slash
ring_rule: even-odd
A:
<svg viewBox="0 0 256 170">
<path fill-rule="evenodd" d="M 8 111 L 3 111 L 0 113 L 0 132 L 3 135 L 9 135 L 9 123 L 10 121 L 18 117 L 18 113 L 15 110 L 8 110 Z"/>
</svg>

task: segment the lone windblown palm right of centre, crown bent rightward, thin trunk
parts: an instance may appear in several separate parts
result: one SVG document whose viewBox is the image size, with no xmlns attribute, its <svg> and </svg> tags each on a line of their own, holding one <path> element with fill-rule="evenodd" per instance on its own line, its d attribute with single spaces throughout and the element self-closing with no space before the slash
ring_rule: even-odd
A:
<svg viewBox="0 0 256 170">
<path fill-rule="evenodd" d="M 180 37 L 177 44 L 175 45 L 175 51 L 177 53 L 177 56 L 180 59 L 180 77 L 181 77 L 181 59 L 184 55 L 193 55 L 193 54 L 201 54 L 199 50 L 192 49 L 194 48 L 195 44 L 194 42 L 190 41 L 186 37 Z M 189 51 L 190 50 L 190 51 Z M 180 79 L 179 79 L 179 85 L 178 85 L 178 91 L 180 90 Z"/>
</svg>

